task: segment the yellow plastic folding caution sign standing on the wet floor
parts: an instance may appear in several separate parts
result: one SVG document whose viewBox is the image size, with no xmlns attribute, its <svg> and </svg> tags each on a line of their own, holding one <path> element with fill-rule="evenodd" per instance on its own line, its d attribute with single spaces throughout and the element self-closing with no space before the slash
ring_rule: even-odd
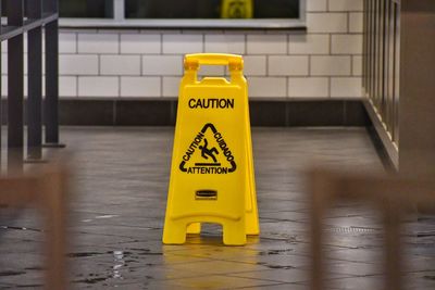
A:
<svg viewBox="0 0 435 290">
<path fill-rule="evenodd" d="M 227 65 L 223 77 L 198 80 L 199 66 Z M 259 235 L 257 193 L 243 59 L 188 54 L 182 79 L 163 242 L 179 244 L 201 223 L 220 224 L 224 244 Z"/>
</svg>

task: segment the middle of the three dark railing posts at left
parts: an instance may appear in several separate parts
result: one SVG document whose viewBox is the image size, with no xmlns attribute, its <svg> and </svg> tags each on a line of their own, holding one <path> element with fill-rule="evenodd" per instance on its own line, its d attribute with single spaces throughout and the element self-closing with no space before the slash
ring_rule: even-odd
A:
<svg viewBox="0 0 435 290">
<path fill-rule="evenodd" d="M 42 17 L 41 0 L 27 0 L 27 17 Z M 42 157 L 42 27 L 28 31 L 27 162 Z"/>
</svg>

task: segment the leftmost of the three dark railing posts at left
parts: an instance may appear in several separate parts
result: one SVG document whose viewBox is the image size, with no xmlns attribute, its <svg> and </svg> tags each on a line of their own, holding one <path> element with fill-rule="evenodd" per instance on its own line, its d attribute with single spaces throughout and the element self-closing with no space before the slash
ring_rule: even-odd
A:
<svg viewBox="0 0 435 290">
<path fill-rule="evenodd" d="M 23 0 L 8 0 L 8 26 L 23 26 Z M 8 169 L 23 169 L 23 34 L 8 40 Z"/>
</svg>

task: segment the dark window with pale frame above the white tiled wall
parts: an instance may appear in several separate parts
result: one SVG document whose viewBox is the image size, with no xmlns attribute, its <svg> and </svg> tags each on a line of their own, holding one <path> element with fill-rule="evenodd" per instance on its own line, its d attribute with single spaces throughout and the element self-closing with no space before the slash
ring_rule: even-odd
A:
<svg viewBox="0 0 435 290">
<path fill-rule="evenodd" d="M 290 28 L 307 0 L 60 0 L 61 26 Z"/>
</svg>

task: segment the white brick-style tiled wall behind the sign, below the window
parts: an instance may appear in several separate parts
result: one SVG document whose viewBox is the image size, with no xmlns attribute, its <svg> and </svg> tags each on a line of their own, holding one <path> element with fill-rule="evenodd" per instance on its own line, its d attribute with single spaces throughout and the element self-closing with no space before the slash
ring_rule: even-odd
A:
<svg viewBox="0 0 435 290">
<path fill-rule="evenodd" d="M 252 98 L 359 98 L 362 0 L 307 0 L 307 31 L 63 29 L 60 94 L 174 98 L 191 52 L 244 54 Z"/>
</svg>

